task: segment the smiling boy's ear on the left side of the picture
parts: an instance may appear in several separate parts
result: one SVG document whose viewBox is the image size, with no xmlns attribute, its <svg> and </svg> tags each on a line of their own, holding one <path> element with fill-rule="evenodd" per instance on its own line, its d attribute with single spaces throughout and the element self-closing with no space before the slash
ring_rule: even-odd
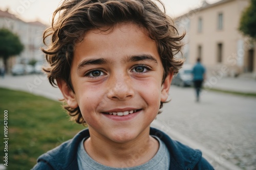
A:
<svg viewBox="0 0 256 170">
<path fill-rule="evenodd" d="M 69 86 L 67 85 L 67 83 L 63 80 L 57 80 L 57 85 L 65 99 L 65 101 L 67 102 L 68 106 L 75 109 L 78 107 L 76 98 L 75 98 L 75 94 L 74 92 L 69 88 Z"/>
</svg>

